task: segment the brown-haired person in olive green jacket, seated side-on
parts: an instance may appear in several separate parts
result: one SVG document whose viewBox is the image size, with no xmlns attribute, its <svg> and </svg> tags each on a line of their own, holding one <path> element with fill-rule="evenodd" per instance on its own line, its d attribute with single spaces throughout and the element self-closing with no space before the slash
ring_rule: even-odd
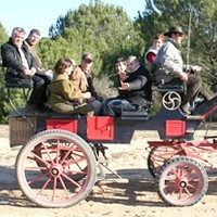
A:
<svg viewBox="0 0 217 217">
<path fill-rule="evenodd" d="M 56 62 L 55 78 L 48 86 L 50 91 L 48 104 L 56 113 L 91 116 L 95 112 L 92 99 L 84 98 L 81 91 L 73 86 L 68 79 L 72 69 L 73 63 L 69 59 L 60 59 Z"/>
</svg>

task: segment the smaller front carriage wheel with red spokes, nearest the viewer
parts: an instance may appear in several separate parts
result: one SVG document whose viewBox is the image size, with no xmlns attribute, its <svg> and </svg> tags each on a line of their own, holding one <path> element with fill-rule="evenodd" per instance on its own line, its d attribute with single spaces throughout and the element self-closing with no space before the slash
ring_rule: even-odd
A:
<svg viewBox="0 0 217 217">
<path fill-rule="evenodd" d="M 189 157 L 169 159 L 156 177 L 161 199 L 174 206 L 197 203 L 208 189 L 207 173 Z"/>
</svg>

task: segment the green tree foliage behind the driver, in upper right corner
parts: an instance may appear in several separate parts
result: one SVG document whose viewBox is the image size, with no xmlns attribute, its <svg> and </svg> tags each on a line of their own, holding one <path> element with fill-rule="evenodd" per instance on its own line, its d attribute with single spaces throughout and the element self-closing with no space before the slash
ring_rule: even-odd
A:
<svg viewBox="0 0 217 217">
<path fill-rule="evenodd" d="M 209 85 L 212 78 L 208 75 L 214 74 L 217 66 L 217 0 L 145 0 L 145 3 L 146 10 L 136 20 L 137 30 L 146 40 L 156 33 L 164 34 L 170 26 L 182 26 L 186 31 L 182 44 L 186 62 L 191 13 L 190 64 L 203 66 L 202 77 Z"/>
</svg>

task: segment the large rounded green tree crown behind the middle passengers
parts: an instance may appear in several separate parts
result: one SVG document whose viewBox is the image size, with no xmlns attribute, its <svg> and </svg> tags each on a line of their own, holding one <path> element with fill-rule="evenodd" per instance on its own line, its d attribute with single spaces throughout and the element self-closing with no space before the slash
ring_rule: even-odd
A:
<svg viewBox="0 0 217 217">
<path fill-rule="evenodd" d="M 85 51 L 92 52 L 95 56 L 95 75 L 113 74 L 117 58 L 135 51 L 139 54 L 141 49 L 133 23 L 123 8 L 101 1 L 81 4 L 78 11 L 69 10 L 50 27 L 49 36 L 53 40 L 63 37 L 72 51 L 71 58 L 78 63 Z"/>
</svg>

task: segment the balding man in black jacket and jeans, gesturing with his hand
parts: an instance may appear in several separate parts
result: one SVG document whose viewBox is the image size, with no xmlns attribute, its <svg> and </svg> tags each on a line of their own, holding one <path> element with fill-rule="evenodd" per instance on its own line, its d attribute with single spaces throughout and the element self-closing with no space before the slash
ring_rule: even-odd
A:
<svg viewBox="0 0 217 217">
<path fill-rule="evenodd" d="M 128 74 L 119 75 L 119 95 L 103 103 L 103 113 L 119 116 L 122 111 L 145 110 L 152 101 L 152 82 L 149 72 L 135 55 L 127 59 Z"/>
</svg>

